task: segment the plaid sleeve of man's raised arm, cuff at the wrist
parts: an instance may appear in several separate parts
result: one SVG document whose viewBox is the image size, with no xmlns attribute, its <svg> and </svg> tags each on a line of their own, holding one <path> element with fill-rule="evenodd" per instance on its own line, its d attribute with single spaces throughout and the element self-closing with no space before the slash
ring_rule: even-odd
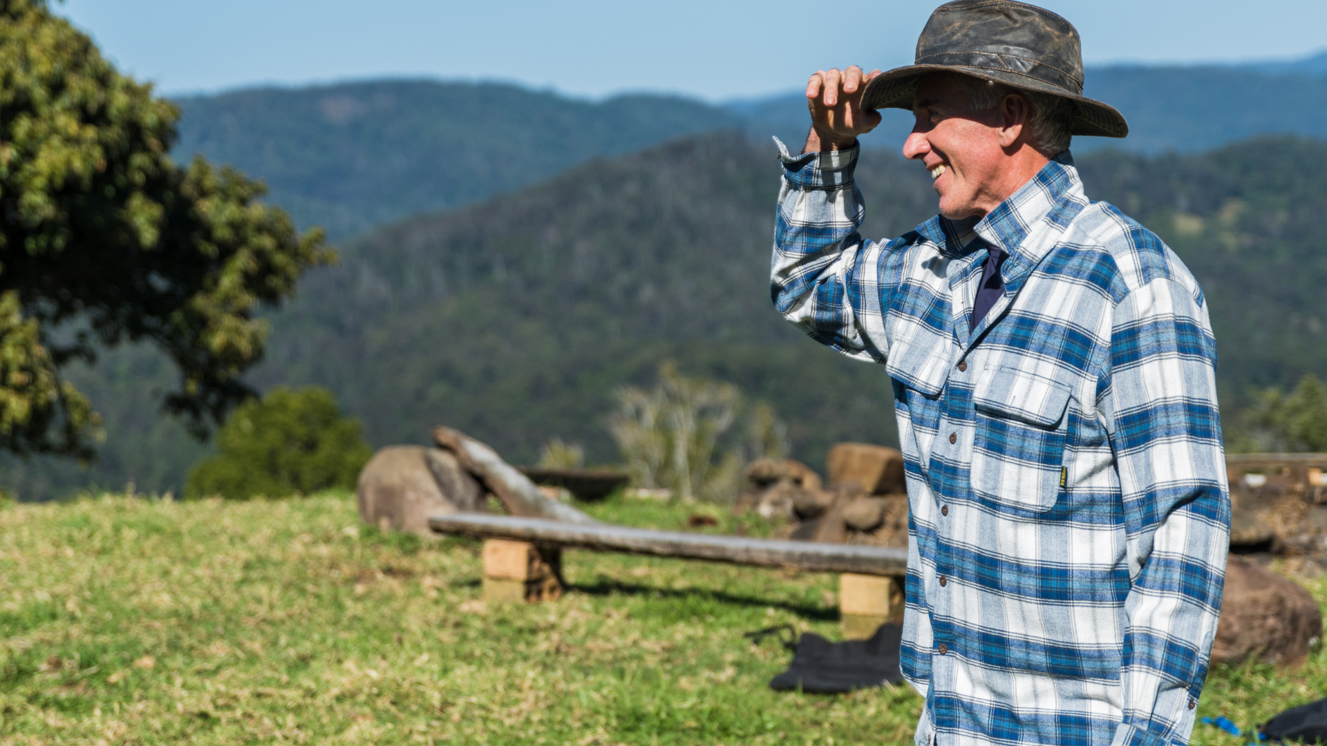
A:
<svg viewBox="0 0 1327 746">
<path fill-rule="evenodd" d="M 863 240 L 860 147 L 790 155 L 784 167 L 771 267 L 774 305 L 816 341 L 849 357 L 884 362 L 881 259 L 892 246 Z"/>
</svg>

